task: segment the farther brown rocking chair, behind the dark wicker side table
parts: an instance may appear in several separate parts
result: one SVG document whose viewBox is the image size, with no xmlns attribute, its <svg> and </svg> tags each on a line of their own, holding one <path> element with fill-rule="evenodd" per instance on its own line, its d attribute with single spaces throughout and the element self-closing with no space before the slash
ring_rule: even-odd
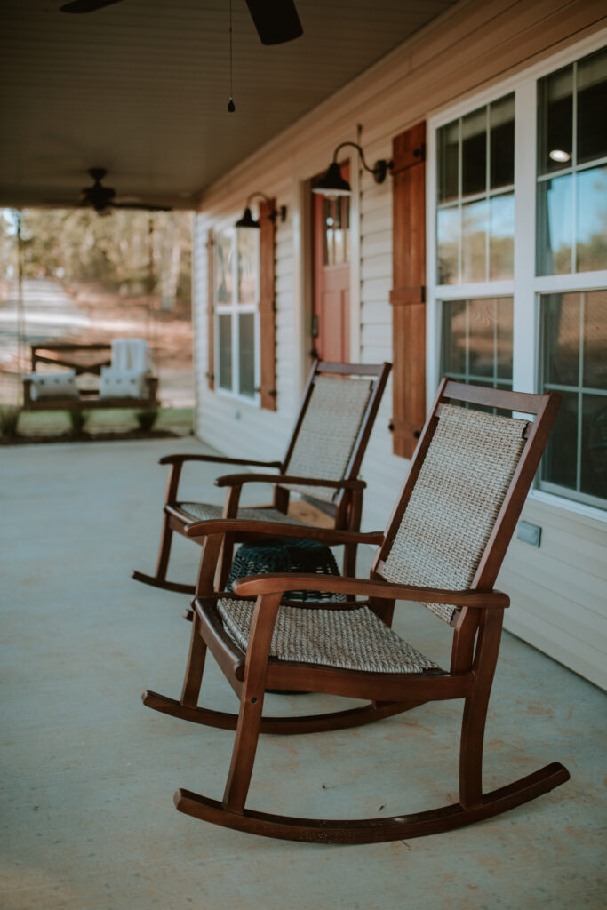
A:
<svg viewBox="0 0 607 910">
<path fill-rule="evenodd" d="M 287 454 L 282 461 L 259 461 L 215 455 L 166 455 L 161 458 L 159 463 L 170 464 L 171 471 L 168 477 L 156 571 L 154 575 L 134 571 L 132 577 L 157 588 L 165 588 L 167 591 L 193 594 L 195 591 L 193 584 L 167 581 L 173 531 L 191 537 L 187 529 L 193 522 L 219 518 L 288 521 L 289 524 L 307 527 L 304 522 L 287 515 L 290 490 L 308 494 L 326 503 L 329 511 L 333 513 L 335 528 L 358 531 L 362 491 L 365 487 L 364 481 L 359 480 L 359 470 L 377 417 L 381 396 L 386 388 L 389 370 L 389 363 L 375 365 L 315 361 L 288 443 Z M 278 469 L 278 473 L 248 472 L 219 477 L 215 485 L 228 487 L 226 503 L 222 509 L 207 502 L 178 500 L 177 487 L 181 469 L 187 461 Z M 273 484 L 272 506 L 238 509 L 243 484 L 256 482 Z M 241 539 L 234 535 L 228 536 L 224 541 L 218 569 L 220 587 L 225 585 L 228 577 L 233 545 L 240 541 Z M 355 571 L 356 547 L 355 542 L 349 541 L 344 548 L 345 574 L 352 574 Z"/>
</svg>

